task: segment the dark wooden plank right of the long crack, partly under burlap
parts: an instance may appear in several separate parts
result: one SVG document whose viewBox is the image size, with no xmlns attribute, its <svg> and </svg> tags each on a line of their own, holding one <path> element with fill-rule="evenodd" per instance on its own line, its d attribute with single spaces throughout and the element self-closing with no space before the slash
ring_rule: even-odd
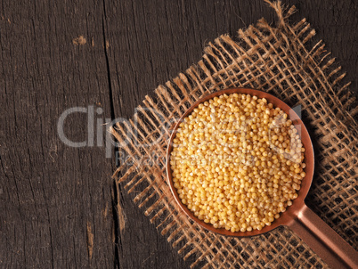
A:
<svg viewBox="0 0 358 269">
<path fill-rule="evenodd" d="M 354 88 L 357 74 L 356 32 L 353 27 L 356 4 L 349 1 L 328 4 L 319 0 L 284 2 L 297 5 L 298 10 L 290 20 L 307 18 L 312 23 L 317 30 L 314 40 L 323 39 L 327 49 L 338 56 L 339 64 L 348 70 L 345 81 L 352 80 Z M 151 94 L 159 84 L 199 61 L 207 42 L 224 33 L 236 36 L 238 29 L 256 23 L 262 17 L 276 21 L 273 11 L 264 1 L 258 0 L 105 0 L 105 4 L 114 114 L 125 118 L 133 115 L 134 108 L 142 102 L 145 94 Z M 175 250 L 155 234 L 153 225 L 143 216 L 142 210 L 129 201 L 131 198 L 121 192 L 126 227 L 131 229 L 125 228 L 120 233 L 120 267 L 165 268 L 167 264 L 170 268 L 188 267 L 191 260 L 184 262 L 173 255 Z"/>
</svg>

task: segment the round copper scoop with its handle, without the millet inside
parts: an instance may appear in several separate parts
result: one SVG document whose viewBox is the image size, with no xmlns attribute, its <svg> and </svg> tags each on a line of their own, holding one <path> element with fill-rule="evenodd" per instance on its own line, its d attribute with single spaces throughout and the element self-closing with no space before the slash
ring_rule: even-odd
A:
<svg viewBox="0 0 358 269">
<path fill-rule="evenodd" d="M 292 120 L 293 124 L 300 132 L 301 141 L 305 147 L 305 178 L 302 180 L 301 188 L 297 192 L 297 199 L 293 200 L 293 204 L 286 208 L 287 210 L 284 213 L 281 213 L 281 216 L 278 219 L 275 219 L 273 224 L 270 226 L 265 225 L 261 231 L 255 230 L 252 232 L 231 232 L 225 229 L 216 229 L 212 224 L 206 224 L 204 221 L 199 220 L 199 218 L 195 216 L 189 208 L 183 205 L 182 201 L 179 199 L 179 195 L 174 187 L 171 173 L 170 153 L 173 150 L 173 139 L 175 138 L 177 128 L 183 121 L 183 118 L 189 116 L 192 110 L 199 106 L 199 103 L 205 102 L 222 94 L 235 93 L 250 94 L 256 95 L 258 98 L 265 98 L 268 102 L 273 103 L 274 107 L 279 107 L 281 110 L 286 112 L 289 115 L 289 118 Z M 194 222 L 198 223 L 208 231 L 220 233 L 226 236 L 248 237 L 259 235 L 264 232 L 270 232 L 278 226 L 284 225 L 288 226 L 290 229 L 296 232 L 301 237 L 301 239 L 304 240 L 329 265 L 333 267 L 348 266 L 351 268 L 358 266 L 357 252 L 336 232 L 334 232 L 328 224 L 323 222 L 319 216 L 315 215 L 311 209 L 306 207 L 305 196 L 307 195 L 313 180 L 314 154 L 312 141 L 305 127 L 305 124 L 302 122 L 301 118 L 298 117 L 297 113 L 292 110 L 289 105 L 287 105 L 285 102 L 282 102 L 272 94 L 267 94 L 263 91 L 250 88 L 231 88 L 218 91 L 213 94 L 207 94 L 205 97 L 199 99 L 191 106 L 189 110 L 185 111 L 182 118 L 180 118 L 173 129 L 173 133 L 169 139 L 167 147 L 166 166 L 167 182 L 177 204 L 187 216 L 189 216 Z"/>
</svg>

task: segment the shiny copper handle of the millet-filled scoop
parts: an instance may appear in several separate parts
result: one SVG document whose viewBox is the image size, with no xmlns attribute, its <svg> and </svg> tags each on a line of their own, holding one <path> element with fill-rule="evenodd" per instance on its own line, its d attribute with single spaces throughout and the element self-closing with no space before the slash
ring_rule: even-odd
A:
<svg viewBox="0 0 358 269">
<path fill-rule="evenodd" d="M 358 268 L 358 252 L 306 205 L 289 228 L 331 268 Z"/>
</svg>

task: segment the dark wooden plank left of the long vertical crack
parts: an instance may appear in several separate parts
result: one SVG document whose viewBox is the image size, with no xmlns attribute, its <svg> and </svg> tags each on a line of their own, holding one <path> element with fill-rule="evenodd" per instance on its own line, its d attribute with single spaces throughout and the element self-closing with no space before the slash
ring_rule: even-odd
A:
<svg viewBox="0 0 358 269">
<path fill-rule="evenodd" d="M 112 267 L 110 159 L 57 134 L 71 107 L 110 118 L 102 3 L 7 1 L 0 12 L 0 267 Z M 72 141 L 86 130 L 84 113 L 65 121 Z"/>
</svg>

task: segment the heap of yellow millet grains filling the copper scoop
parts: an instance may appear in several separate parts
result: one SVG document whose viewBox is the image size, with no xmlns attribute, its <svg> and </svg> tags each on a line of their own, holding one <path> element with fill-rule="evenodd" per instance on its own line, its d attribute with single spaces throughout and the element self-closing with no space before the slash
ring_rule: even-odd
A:
<svg viewBox="0 0 358 269">
<path fill-rule="evenodd" d="M 289 116 L 266 99 L 223 94 L 183 119 L 170 155 L 179 198 L 215 228 L 250 232 L 292 205 L 305 149 Z"/>
</svg>

